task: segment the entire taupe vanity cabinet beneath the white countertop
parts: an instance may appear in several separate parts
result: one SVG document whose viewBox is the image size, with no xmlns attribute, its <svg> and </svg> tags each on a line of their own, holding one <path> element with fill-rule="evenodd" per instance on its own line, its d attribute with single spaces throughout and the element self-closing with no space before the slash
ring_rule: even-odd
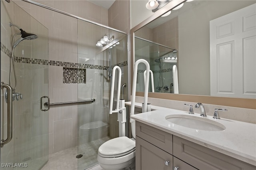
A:
<svg viewBox="0 0 256 170">
<path fill-rule="evenodd" d="M 136 121 L 136 170 L 256 170 L 255 166 Z"/>
</svg>

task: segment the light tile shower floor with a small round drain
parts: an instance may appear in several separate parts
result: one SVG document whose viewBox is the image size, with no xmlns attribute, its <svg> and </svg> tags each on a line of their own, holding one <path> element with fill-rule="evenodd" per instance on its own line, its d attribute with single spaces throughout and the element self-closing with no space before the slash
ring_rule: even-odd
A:
<svg viewBox="0 0 256 170">
<path fill-rule="evenodd" d="M 47 164 L 41 170 L 103 170 L 97 162 L 98 148 L 109 140 L 109 137 L 100 138 L 86 144 L 61 150 L 49 155 Z M 77 154 L 83 154 L 82 158 L 76 158 Z M 78 168 L 79 164 L 79 168 Z M 96 166 L 95 166 L 96 165 Z"/>
</svg>

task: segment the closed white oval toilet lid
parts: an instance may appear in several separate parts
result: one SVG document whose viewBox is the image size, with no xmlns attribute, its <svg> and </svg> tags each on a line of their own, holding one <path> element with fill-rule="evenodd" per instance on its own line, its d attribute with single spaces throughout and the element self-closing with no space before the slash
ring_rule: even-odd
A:
<svg viewBox="0 0 256 170">
<path fill-rule="evenodd" d="M 135 150 L 135 141 L 126 137 L 113 138 L 102 144 L 98 153 L 103 157 L 118 157 Z"/>
</svg>

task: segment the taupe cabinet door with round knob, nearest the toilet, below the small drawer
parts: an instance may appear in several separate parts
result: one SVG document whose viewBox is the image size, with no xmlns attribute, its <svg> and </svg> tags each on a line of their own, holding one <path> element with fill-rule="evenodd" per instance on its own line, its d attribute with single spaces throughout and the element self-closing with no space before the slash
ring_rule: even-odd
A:
<svg viewBox="0 0 256 170">
<path fill-rule="evenodd" d="M 172 170 L 172 166 L 171 154 L 136 136 L 136 170 Z"/>
</svg>

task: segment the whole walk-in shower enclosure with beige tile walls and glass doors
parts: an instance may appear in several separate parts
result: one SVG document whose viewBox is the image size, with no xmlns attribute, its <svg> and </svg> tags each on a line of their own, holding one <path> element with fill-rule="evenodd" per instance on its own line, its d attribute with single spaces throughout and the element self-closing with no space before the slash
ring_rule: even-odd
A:
<svg viewBox="0 0 256 170">
<path fill-rule="evenodd" d="M 121 83 L 128 84 L 127 34 L 54 8 L 43 9 L 46 6 L 42 4 L 24 3 L 28 2 L 32 3 L 35 17 L 48 26 L 49 31 L 15 1 L 1 1 L 1 81 L 9 81 L 10 40 L 19 31 L 16 27 L 10 28 L 9 22 L 38 38 L 23 40 L 14 50 L 16 93 L 21 93 L 22 99 L 19 96 L 19 100 L 15 98 L 12 102 L 13 138 L 0 148 L 0 163 L 4 163 L 0 169 L 14 163 L 33 170 L 41 169 L 48 161 L 48 151 L 55 154 L 68 148 L 77 148 L 76 155 L 70 155 L 77 161 L 79 170 L 90 168 L 98 164 L 100 144 L 119 134 L 117 114 L 108 114 L 109 71 L 115 65 L 121 67 L 124 73 Z M 35 11 L 40 11 L 40 15 Z M 52 22 L 51 18 L 45 20 L 45 16 L 58 22 Z M 102 47 L 96 46 L 104 36 L 109 42 Z M 47 101 L 48 85 L 50 101 Z M 124 88 L 126 101 L 127 94 L 128 88 Z M 6 138 L 8 126 L 4 95 L 5 89 L 2 89 L 1 139 Z M 88 99 L 95 99 L 95 102 L 76 104 Z M 49 102 L 52 105 L 48 112 Z"/>
</svg>

